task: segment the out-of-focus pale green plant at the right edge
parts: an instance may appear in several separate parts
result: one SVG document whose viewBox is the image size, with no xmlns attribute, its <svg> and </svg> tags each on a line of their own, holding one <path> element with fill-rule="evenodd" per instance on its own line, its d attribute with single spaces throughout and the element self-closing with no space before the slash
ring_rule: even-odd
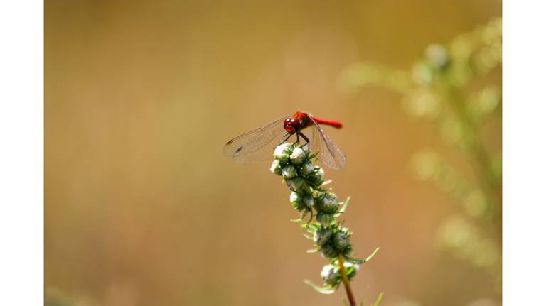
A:
<svg viewBox="0 0 546 306">
<path fill-rule="evenodd" d="M 461 204 L 460 213 L 440 226 L 439 245 L 472 266 L 486 268 L 498 285 L 501 148 L 486 150 L 481 133 L 486 124 L 501 121 L 500 85 L 487 78 L 501 62 L 502 21 L 496 18 L 446 45 L 429 45 L 409 71 L 355 63 L 338 83 L 348 93 L 375 85 L 402 94 L 402 108 L 408 114 L 434 121 L 444 142 L 460 149 L 473 173 L 432 150 L 415 153 L 412 168 L 417 178 L 434 182 Z"/>
</svg>

